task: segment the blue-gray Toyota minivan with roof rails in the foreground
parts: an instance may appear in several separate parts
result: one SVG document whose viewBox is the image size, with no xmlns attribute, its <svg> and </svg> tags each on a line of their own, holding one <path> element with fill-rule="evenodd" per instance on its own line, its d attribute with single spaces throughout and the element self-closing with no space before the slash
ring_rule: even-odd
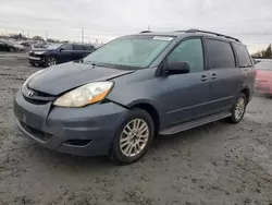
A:
<svg viewBox="0 0 272 205">
<path fill-rule="evenodd" d="M 226 119 L 238 123 L 256 72 L 246 46 L 212 32 L 143 32 L 78 62 L 30 75 L 14 97 L 20 130 L 38 144 L 126 165 L 153 137 Z"/>
</svg>

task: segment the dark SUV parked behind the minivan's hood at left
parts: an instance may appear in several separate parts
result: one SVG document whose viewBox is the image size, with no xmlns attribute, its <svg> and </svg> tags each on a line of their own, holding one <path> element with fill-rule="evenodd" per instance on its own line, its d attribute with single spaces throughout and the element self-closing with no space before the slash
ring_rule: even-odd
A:
<svg viewBox="0 0 272 205">
<path fill-rule="evenodd" d="M 32 65 L 51 67 L 83 59 L 94 50 L 91 45 L 52 44 L 45 48 L 32 49 L 28 52 L 28 61 Z"/>
</svg>

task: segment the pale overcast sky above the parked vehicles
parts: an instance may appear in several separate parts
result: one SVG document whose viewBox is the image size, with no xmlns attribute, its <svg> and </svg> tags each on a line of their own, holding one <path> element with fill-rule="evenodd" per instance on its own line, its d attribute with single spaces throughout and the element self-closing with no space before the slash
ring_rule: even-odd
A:
<svg viewBox="0 0 272 205">
<path fill-rule="evenodd" d="M 240 38 L 250 51 L 272 43 L 272 0 L 0 0 L 0 32 L 108 41 L 147 29 L 202 28 Z"/>
</svg>

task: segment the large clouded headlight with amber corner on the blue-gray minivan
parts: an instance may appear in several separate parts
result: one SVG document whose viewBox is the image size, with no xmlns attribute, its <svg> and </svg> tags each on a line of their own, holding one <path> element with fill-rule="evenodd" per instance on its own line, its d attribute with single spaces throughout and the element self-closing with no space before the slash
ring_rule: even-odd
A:
<svg viewBox="0 0 272 205">
<path fill-rule="evenodd" d="M 112 82 L 95 82 L 77 87 L 59 97 L 53 105 L 60 107 L 84 107 L 101 101 L 110 93 Z"/>
</svg>

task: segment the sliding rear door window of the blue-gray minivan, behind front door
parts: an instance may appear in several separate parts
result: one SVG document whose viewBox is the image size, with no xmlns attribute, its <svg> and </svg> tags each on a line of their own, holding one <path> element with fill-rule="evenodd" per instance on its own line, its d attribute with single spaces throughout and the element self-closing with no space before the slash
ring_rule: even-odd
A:
<svg viewBox="0 0 272 205">
<path fill-rule="evenodd" d="M 235 68 L 235 59 L 230 43 L 207 39 L 211 69 Z"/>
</svg>

